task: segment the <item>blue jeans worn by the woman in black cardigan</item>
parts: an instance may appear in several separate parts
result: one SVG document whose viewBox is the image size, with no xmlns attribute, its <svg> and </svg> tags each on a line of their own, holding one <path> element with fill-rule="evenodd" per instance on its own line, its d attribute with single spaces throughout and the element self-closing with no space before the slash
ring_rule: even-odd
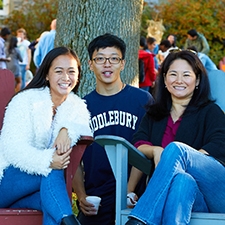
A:
<svg viewBox="0 0 225 225">
<path fill-rule="evenodd" d="M 172 142 L 129 216 L 147 225 L 183 225 L 190 223 L 191 212 L 225 213 L 225 167 L 188 145 Z"/>
</svg>

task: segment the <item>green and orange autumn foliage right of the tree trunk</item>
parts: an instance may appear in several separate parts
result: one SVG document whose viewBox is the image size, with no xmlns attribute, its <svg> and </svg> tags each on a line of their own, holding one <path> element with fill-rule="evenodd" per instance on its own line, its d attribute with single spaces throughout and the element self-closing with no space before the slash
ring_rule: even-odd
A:
<svg viewBox="0 0 225 225">
<path fill-rule="evenodd" d="M 203 33 L 210 45 L 209 56 L 218 65 L 225 56 L 224 4 L 225 0 L 167 0 L 151 10 L 158 13 L 157 19 L 163 19 L 166 28 L 163 37 L 175 34 L 180 48 L 185 43 L 188 30 L 193 28 Z"/>
</svg>

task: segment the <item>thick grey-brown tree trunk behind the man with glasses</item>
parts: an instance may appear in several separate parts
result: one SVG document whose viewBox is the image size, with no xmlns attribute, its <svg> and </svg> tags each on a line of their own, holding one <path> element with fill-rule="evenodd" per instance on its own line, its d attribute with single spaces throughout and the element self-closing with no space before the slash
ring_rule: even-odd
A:
<svg viewBox="0 0 225 225">
<path fill-rule="evenodd" d="M 138 84 L 138 48 L 143 0 L 60 0 L 56 46 L 75 50 L 82 64 L 78 95 L 95 88 L 94 74 L 88 67 L 87 46 L 98 35 L 112 33 L 126 45 L 126 66 L 121 74 L 125 83 Z"/>
</svg>

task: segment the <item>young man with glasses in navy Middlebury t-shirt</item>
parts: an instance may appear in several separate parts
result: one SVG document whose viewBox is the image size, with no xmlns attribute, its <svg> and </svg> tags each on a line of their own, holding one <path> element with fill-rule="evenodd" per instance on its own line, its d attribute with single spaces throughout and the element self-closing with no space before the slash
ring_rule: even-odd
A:
<svg viewBox="0 0 225 225">
<path fill-rule="evenodd" d="M 131 141 L 145 113 L 144 106 L 153 101 L 148 92 L 122 82 L 120 73 L 125 66 L 125 51 L 124 41 L 111 34 L 96 37 L 88 46 L 96 89 L 84 98 L 91 112 L 94 136 L 117 135 Z M 115 224 L 116 182 L 104 148 L 93 143 L 86 149 L 83 168 L 78 168 L 73 187 L 82 225 Z M 86 201 L 89 195 L 102 199 L 97 215 L 92 204 Z"/>
</svg>

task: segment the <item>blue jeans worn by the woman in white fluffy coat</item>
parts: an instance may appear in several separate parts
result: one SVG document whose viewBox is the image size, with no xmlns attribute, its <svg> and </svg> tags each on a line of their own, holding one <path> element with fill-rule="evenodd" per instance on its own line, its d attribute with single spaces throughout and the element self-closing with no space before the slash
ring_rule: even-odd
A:
<svg viewBox="0 0 225 225">
<path fill-rule="evenodd" d="M 10 166 L 0 183 L 0 199 L 0 208 L 41 210 L 43 225 L 58 225 L 64 216 L 73 214 L 63 170 L 52 170 L 44 177 Z"/>
</svg>

